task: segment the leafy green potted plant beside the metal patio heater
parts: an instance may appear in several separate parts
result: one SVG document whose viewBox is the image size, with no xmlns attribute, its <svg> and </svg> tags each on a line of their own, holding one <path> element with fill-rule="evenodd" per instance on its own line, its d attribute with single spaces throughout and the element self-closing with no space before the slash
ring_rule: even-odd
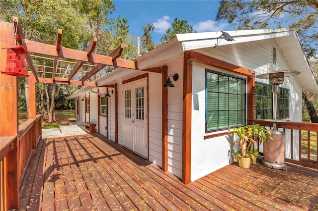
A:
<svg viewBox="0 0 318 211">
<path fill-rule="evenodd" d="M 260 144 L 262 141 L 266 142 L 266 135 L 272 139 L 271 134 L 259 124 L 245 125 L 233 129 L 232 131 L 239 136 L 235 141 L 235 146 L 239 143 L 240 150 L 235 153 L 236 161 L 239 161 L 239 166 L 249 168 L 249 164 L 256 163 L 258 151 L 254 147 L 254 143 Z"/>
</svg>

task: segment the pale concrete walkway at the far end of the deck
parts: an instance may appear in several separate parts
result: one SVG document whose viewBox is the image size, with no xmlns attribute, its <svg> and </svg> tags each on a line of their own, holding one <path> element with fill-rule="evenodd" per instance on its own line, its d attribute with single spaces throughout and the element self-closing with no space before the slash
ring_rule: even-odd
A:
<svg viewBox="0 0 318 211">
<path fill-rule="evenodd" d="M 85 135 L 85 126 L 77 122 L 71 122 L 70 125 L 61 125 L 60 128 L 42 129 L 42 139 Z"/>
</svg>

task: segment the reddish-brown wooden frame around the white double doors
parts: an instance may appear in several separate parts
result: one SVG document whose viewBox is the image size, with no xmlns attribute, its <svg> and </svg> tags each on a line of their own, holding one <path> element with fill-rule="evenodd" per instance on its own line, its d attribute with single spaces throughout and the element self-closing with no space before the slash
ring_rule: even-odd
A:
<svg viewBox="0 0 318 211">
<path fill-rule="evenodd" d="M 133 83 L 133 82 L 137 82 L 138 80 L 142 80 L 142 79 L 145 79 L 146 78 L 146 92 L 147 92 L 147 159 L 149 159 L 149 79 L 148 79 L 148 72 L 147 73 L 144 73 L 144 74 L 141 74 L 141 75 L 138 75 L 138 76 L 135 76 L 135 77 L 132 77 L 132 78 L 129 78 L 127 80 L 123 80 L 122 81 L 122 96 L 124 96 L 124 85 L 125 84 L 128 84 L 128 83 Z M 124 106 L 124 105 L 122 105 Z M 123 116 L 124 118 L 124 116 Z M 124 144 L 123 144 L 124 146 Z M 129 149 L 129 148 L 128 148 Z M 135 151 L 132 151 L 134 153 L 136 153 Z M 138 154 L 138 153 L 136 153 Z M 139 155 L 139 154 L 138 154 Z"/>
</svg>

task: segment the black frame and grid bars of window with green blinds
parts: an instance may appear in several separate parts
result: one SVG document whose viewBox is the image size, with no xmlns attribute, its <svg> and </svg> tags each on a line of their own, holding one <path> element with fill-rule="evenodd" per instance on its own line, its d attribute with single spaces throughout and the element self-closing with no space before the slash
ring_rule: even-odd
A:
<svg viewBox="0 0 318 211">
<path fill-rule="evenodd" d="M 233 127 L 238 127 L 238 126 L 241 126 L 241 125 L 244 125 L 246 124 L 246 121 L 247 121 L 247 92 L 246 92 L 246 87 L 247 87 L 247 79 L 246 78 L 243 78 L 243 77 L 239 77 L 239 76 L 236 76 L 236 75 L 231 75 L 231 74 L 227 74 L 227 73 L 223 73 L 223 72 L 218 72 L 218 71 L 215 71 L 215 70 L 211 70 L 211 69 L 205 69 L 205 133 L 211 133 L 211 132 L 216 132 L 216 131 L 222 131 L 222 130 L 227 130 L 227 129 L 230 129 L 230 128 L 233 128 Z M 242 80 L 244 83 L 243 83 L 243 86 L 244 86 L 244 93 L 243 94 L 239 94 L 238 92 L 236 94 L 234 93 L 231 93 L 229 92 L 229 89 L 228 89 L 228 94 L 231 94 L 231 95 L 235 95 L 235 96 L 243 96 L 243 102 L 244 102 L 244 105 L 243 105 L 243 109 L 239 109 L 237 107 L 237 109 L 235 109 L 236 111 L 243 111 L 243 122 L 244 124 L 240 124 L 240 125 L 233 125 L 233 126 L 228 126 L 228 127 L 222 127 L 220 128 L 219 127 L 219 117 L 218 118 L 218 128 L 215 128 L 215 129 L 208 129 L 208 112 L 210 110 L 208 110 L 208 73 L 213 73 L 213 74 L 217 74 L 217 75 L 222 75 L 222 76 L 226 76 L 226 77 L 230 77 L 230 78 L 235 78 L 235 79 L 239 79 L 239 80 Z M 216 92 L 218 93 L 218 105 L 219 105 L 219 93 L 222 93 L 222 92 L 219 92 L 219 80 L 218 80 L 218 91 Z M 219 106 L 217 108 L 217 111 L 233 111 L 234 109 L 231 109 L 230 108 L 230 102 L 228 102 L 228 105 L 229 107 L 227 108 L 227 110 L 223 109 L 223 110 L 220 110 Z M 238 106 L 238 105 L 237 105 Z M 238 116 L 237 116 L 237 120 L 238 120 Z M 229 125 L 229 115 L 228 115 L 228 125 Z"/>
</svg>

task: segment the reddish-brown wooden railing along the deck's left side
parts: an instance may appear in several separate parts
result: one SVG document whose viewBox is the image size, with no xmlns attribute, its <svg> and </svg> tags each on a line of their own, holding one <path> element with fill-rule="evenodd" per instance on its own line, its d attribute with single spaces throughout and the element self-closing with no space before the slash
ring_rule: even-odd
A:
<svg viewBox="0 0 318 211">
<path fill-rule="evenodd" d="M 29 164 L 31 158 L 36 154 L 36 145 L 42 138 L 42 116 L 37 115 L 35 119 L 29 119 L 19 125 L 17 136 L 1 137 L 0 145 L 0 211 L 5 210 L 6 195 L 18 193 L 11 190 L 9 183 L 24 180 L 23 171 Z M 17 152 L 17 153 L 14 153 Z M 18 163 L 17 163 L 18 161 Z M 16 172 L 19 181 L 12 181 L 12 172 Z M 16 178 L 13 177 L 13 178 Z"/>
</svg>

